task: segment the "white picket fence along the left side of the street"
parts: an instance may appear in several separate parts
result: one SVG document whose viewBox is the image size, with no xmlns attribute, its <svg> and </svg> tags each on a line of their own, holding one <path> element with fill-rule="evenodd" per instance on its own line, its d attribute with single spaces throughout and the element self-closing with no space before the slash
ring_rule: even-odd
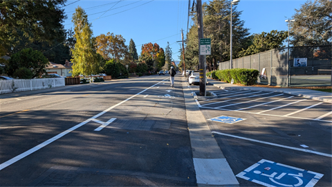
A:
<svg viewBox="0 0 332 187">
<path fill-rule="evenodd" d="M 64 87 L 64 78 L 0 80 L 0 94 Z"/>
</svg>

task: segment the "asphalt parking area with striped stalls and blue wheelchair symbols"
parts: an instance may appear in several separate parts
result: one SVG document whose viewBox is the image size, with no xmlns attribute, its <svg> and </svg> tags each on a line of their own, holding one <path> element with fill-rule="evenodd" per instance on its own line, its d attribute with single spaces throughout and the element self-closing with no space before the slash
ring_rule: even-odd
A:
<svg viewBox="0 0 332 187">
<path fill-rule="evenodd" d="M 193 91 L 198 89 L 192 86 Z M 212 86 L 208 91 L 218 98 L 199 100 L 198 104 L 240 186 L 304 186 L 300 180 L 332 186 L 331 103 L 275 92 L 227 91 Z M 219 116 L 236 121 L 213 121 Z M 259 161 L 284 164 L 295 175 L 289 175 L 285 167 L 269 173 L 269 167 L 274 170 L 275 165 L 256 170 Z M 305 176 L 303 170 L 319 177 Z"/>
</svg>

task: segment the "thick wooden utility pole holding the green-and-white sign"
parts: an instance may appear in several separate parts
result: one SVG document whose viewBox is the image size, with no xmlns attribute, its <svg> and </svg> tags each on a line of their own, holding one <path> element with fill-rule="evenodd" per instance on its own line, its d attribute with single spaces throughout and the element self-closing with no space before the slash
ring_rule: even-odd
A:
<svg viewBox="0 0 332 187">
<path fill-rule="evenodd" d="M 199 27 L 199 41 L 201 38 L 204 38 L 203 35 L 203 11 L 202 11 L 202 1 L 197 0 L 197 21 Z M 199 42 L 198 41 L 198 42 Z M 199 50 L 201 48 L 201 44 L 199 42 Z M 205 55 L 201 55 L 201 51 L 199 52 L 199 94 L 201 96 L 206 96 L 205 94 Z"/>
</svg>

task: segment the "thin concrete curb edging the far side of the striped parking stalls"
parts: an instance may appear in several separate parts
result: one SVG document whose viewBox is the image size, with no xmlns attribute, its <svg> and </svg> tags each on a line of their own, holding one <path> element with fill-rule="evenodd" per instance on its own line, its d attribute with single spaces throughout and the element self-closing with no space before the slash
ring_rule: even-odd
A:
<svg viewBox="0 0 332 187">
<path fill-rule="evenodd" d="M 218 84 L 214 84 L 212 82 L 209 82 L 210 85 L 214 86 L 214 87 L 217 87 L 219 89 L 227 89 L 227 90 L 252 90 L 252 91 L 257 91 L 257 90 L 260 90 L 260 91 L 272 91 L 272 92 L 277 92 L 277 93 L 284 93 L 284 94 L 291 94 L 293 96 L 299 96 L 299 97 L 304 97 L 304 98 L 310 98 L 310 99 L 313 99 L 313 100 L 320 100 L 320 101 L 324 101 L 326 103 L 332 103 L 332 98 L 322 98 L 320 96 L 311 96 L 311 95 L 308 95 L 308 94 L 299 94 L 298 92 L 299 91 L 284 91 L 284 90 L 273 90 L 273 89 L 270 89 L 268 90 L 268 88 L 243 88 L 243 87 L 239 87 L 239 88 L 230 88 L 230 87 L 222 87 L 222 86 L 219 86 Z"/>
</svg>

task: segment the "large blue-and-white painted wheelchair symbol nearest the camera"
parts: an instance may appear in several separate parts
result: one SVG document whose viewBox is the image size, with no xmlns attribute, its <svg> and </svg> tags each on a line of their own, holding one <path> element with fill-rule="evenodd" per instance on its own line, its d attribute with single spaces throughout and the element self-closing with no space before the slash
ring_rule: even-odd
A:
<svg viewBox="0 0 332 187">
<path fill-rule="evenodd" d="M 269 187 L 313 187 L 323 175 L 262 159 L 237 177 Z"/>
</svg>

